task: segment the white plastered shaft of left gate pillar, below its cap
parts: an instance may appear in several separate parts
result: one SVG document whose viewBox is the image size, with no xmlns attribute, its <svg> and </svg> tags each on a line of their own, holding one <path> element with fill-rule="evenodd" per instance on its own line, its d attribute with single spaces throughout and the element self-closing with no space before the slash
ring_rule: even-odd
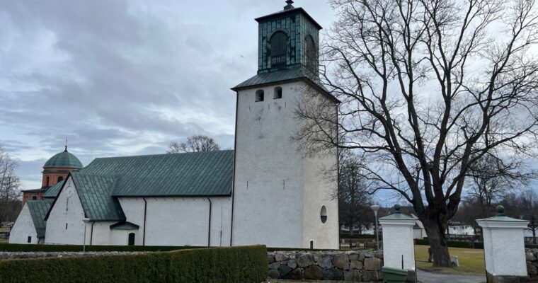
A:
<svg viewBox="0 0 538 283">
<path fill-rule="evenodd" d="M 401 268 L 401 256 L 404 255 L 404 269 L 415 270 L 413 224 L 404 226 L 382 223 L 382 227 L 384 266 Z"/>
</svg>

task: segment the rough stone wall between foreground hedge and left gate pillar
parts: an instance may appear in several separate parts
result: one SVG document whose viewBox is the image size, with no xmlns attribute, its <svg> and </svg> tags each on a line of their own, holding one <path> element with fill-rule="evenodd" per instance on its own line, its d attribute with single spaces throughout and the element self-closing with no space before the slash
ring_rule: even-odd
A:
<svg viewBox="0 0 538 283">
<path fill-rule="evenodd" d="M 383 253 L 362 251 L 277 251 L 268 253 L 273 279 L 383 282 Z"/>
</svg>

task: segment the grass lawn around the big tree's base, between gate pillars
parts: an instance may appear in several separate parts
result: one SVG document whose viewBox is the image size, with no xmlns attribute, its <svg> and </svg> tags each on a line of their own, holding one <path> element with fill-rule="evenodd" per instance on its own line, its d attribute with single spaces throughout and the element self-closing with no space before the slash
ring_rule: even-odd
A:
<svg viewBox="0 0 538 283">
<path fill-rule="evenodd" d="M 428 260 L 429 246 L 415 246 L 416 260 Z M 474 275 L 484 275 L 485 264 L 483 261 L 483 250 L 471 248 L 448 248 L 450 257 L 456 255 L 459 260 L 459 267 L 433 267 L 430 262 L 416 262 L 417 268 L 421 270 L 450 272 L 450 273 L 472 273 Z"/>
</svg>

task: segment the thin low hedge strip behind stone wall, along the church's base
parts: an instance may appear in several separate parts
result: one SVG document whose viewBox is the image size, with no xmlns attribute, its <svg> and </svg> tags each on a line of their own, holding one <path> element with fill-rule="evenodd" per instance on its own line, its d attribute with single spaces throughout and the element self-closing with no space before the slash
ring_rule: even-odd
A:
<svg viewBox="0 0 538 283">
<path fill-rule="evenodd" d="M 88 252 L 166 252 L 186 250 L 191 246 L 86 246 Z M 28 245 L 18 243 L 0 243 L 0 252 L 81 252 L 83 246 L 76 245 Z"/>
</svg>

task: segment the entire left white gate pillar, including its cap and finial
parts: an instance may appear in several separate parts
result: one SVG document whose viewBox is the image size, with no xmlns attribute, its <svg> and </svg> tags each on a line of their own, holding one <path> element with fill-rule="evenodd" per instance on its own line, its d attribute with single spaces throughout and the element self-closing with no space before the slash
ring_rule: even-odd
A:
<svg viewBox="0 0 538 283">
<path fill-rule="evenodd" d="M 394 206 L 396 212 L 379 219 L 383 229 L 383 262 L 386 267 L 415 270 L 415 247 L 413 226 L 416 219 L 401 214 L 400 206 Z M 403 264 L 403 266 L 402 266 Z"/>
</svg>

